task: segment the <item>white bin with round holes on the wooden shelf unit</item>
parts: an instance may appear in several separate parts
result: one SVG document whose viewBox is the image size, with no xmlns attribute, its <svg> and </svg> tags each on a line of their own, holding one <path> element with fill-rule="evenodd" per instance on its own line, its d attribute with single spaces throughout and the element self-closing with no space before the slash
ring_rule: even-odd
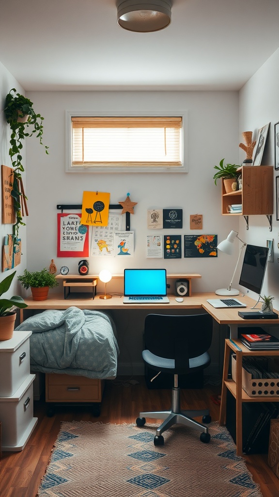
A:
<svg viewBox="0 0 279 497">
<path fill-rule="evenodd" d="M 235 355 L 231 357 L 231 376 L 236 381 L 236 359 Z M 278 402 L 279 397 L 279 378 L 278 379 L 253 379 L 252 375 L 242 368 L 242 388 L 249 397 L 274 397 Z"/>
</svg>

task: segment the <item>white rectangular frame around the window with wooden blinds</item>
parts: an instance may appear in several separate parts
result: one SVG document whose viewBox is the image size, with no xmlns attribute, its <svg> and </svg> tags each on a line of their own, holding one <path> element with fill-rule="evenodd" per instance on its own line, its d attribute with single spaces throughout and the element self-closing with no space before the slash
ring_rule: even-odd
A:
<svg viewBox="0 0 279 497">
<path fill-rule="evenodd" d="M 72 134 L 71 134 L 71 118 L 72 117 L 182 117 L 182 135 L 181 135 L 181 159 L 182 166 L 72 166 Z M 66 172 L 76 173 L 76 172 L 188 172 L 187 167 L 187 131 L 188 131 L 188 113 L 187 111 L 172 111 L 172 112 L 89 112 L 89 111 L 71 111 L 66 110 Z"/>
</svg>

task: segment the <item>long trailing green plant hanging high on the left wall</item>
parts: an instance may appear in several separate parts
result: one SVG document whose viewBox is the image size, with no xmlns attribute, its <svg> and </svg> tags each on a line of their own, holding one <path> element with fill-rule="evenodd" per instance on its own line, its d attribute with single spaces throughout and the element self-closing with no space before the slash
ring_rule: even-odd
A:
<svg viewBox="0 0 279 497">
<path fill-rule="evenodd" d="M 36 114 L 33 109 L 33 102 L 16 93 L 16 89 L 12 88 L 5 99 L 4 114 L 7 123 L 11 129 L 9 156 L 13 167 L 13 182 L 11 196 L 13 198 L 13 208 L 16 215 L 16 222 L 13 226 L 13 237 L 18 237 L 19 225 L 25 226 L 22 221 L 20 197 L 25 194 L 21 191 L 21 172 L 24 171 L 22 165 L 22 142 L 25 137 L 35 135 L 40 139 L 40 144 L 43 145 L 43 120 L 41 114 Z M 43 145 L 44 146 L 44 145 Z M 48 154 L 48 147 L 45 147 L 45 152 Z M 21 184 L 20 184 L 21 183 Z"/>
</svg>

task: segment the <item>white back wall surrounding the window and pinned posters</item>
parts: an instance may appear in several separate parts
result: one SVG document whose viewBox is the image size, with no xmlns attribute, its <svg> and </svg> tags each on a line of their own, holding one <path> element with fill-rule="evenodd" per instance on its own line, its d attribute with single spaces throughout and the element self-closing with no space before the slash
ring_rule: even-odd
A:
<svg viewBox="0 0 279 497">
<path fill-rule="evenodd" d="M 238 93 L 237 92 L 28 92 L 34 108 L 44 120 L 44 143 L 47 156 L 36 140 L 27 144 L 27 196 L 29 218 L 27 227 L 28 269 L 49 267 L 51 259 L 58 268 L 66 264 L 77 273 L 79 258 L 57 258 L 56 216 L 58 203 L 80 204 L 83 190 L 110 192 L 111 203 L 130 198 L 138 202 L 131 215 L 135 232 L 135 257 L 92 258 L 90 272 L 107 267 L 114 273 L 124 267 L 161 267 L 168 272 L 198 272 L 201 280 L 194 282 L 194 291 L 209 291 L 228 284 L 233 272 L 234 257 L 219 253 L 217 258 L 191 258 L 166 261 L 146 259 L 147 209 L 183 208 L 183 229 L 178 234 L 217 234 L 224 239 L 238 226 L 237 218 L 221 216 L 220 183 L 215 186 L 213 166 L 225 157 L 238 160 Z M 66 173 L 65 172 L 65 111 L 92 110 L 137 112 L 188 111 L 188 173 Z M 203 229 L 190 230 L 190 214 L 203 214 Z M 165 230 L 156 233 L 167 234 Z M 236 255 L 235 255 L 236 257 Z"/>
</svg>

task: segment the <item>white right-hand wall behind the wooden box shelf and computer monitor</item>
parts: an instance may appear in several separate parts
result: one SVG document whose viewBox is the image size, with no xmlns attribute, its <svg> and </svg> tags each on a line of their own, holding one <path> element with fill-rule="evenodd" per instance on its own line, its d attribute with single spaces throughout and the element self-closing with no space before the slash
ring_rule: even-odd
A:
<svg viewBox="0 0 279 497">
<path fill-rule="evenodd" d="M 274 157 L 274 124 L 279 121 L 279 49 L 243 86 L 239 92 L 239 136 L 242 131 L 253 131 L 253 139 L 257 138 L 259 128 L 270 122 L 270 129 L 263 155 L 262 165 L 273 165 Z M 242 141 L 242 140 L 241 140 Z M 243 152 L 240 151 L 243 158 Z M 279 170 L 274 170 L 274 215 L 273 230 L 269 231 L 268 220 L 265 216 L 250 216 L 249 230 L 246 223 L 240 219 L 239 236 L 247 243 L 266 246 L 266 241 L 274 239 L 274 262 L 268 262 L 262 295 L 275 297 L 274 307 L 279 309 L 279 221 L 276 219 L 276 186 L 275 178 Z M 244 289 L 245 291 L 245 289 Z M 247 291 L 245 291 L 247 293 Z M 250 293 L 249 293 L 250 294 Z M 253 292 L 253 298 L 257 298 Z"/>
</svg>

